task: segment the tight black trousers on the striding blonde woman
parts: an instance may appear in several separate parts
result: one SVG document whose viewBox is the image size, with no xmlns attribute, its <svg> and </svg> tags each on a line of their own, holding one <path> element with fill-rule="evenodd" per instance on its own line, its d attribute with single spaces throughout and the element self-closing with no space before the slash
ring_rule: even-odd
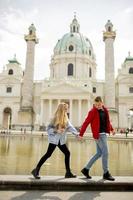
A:
<svg viewBox="0 0 133 200">
<path fill-rule="evenodd" d="M 66 144 L 61 145 L 60 142 L 58 145 L 56 144 L 52 144 L 49 143 L 47 152 L 45 153 L 44 156 L 42 156 L 42 158 L 40 159 L 40 161 L 37 164 L 37 169 L 38 171 L 40 170 L 41 166 L 43 165 L 43 163 L 49 158 L 51 157 L 52 153 L 54 152 L 56 146 L 58 146 L 58 148 L 64 153 L 65 155 L 65 167 L 66 167 L 66 171 L 70 171 L 70 151 L 68 150 Z"/>
</svg>

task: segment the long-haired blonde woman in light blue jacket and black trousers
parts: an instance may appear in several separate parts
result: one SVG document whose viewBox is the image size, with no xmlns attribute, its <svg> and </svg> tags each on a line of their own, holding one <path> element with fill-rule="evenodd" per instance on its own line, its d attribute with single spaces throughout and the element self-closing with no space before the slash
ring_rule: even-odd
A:
<svg viewBox="0 0 133 200">
<path fill-rule="evenodd" d="M 54 114 L 53 119 L 51 120 L 50 124 L 48 125 L 47 132 L 48 132 L 48 142 L 49 146 L 47 152 L 44 156 L 40 159 L 35 169 L 32 170 L 32 175 L 36 179 L 40 179 L 39 171 L 41 166 L 44 162 L 51 157 L 52 153 L 54 152 L 56 146 L 64 153 L 65 155 L 65 167 L 66 167 L 66 174 L 65 178 L 75 178 L 76 175 L 73 175 L 70 170 L 70 151 L 66 146 L 66 138 L 67 132 L 72 132 L 74 135 L 78 136 L 77 130 L 73 127 L 70 123 L 68 116 L 68 104 L 60 103 L 57 107 L 57 110 Z"/>
</svg>

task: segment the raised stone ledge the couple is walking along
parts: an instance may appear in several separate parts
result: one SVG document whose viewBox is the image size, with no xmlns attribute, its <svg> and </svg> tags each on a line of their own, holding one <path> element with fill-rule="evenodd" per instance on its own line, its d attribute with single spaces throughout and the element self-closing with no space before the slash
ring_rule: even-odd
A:
<svg viewBox="0 0 133 200">
<path fill-rule="evenodd" d="M 133 176 L 115 178 L 115 181 L 106 181 L 96 176 L 91 180 L 83 176 L 69 179 L 43 176 L 36 180 L 30 175 L 0 175 L 0 190 L 133 191 Z"/>
</svg>

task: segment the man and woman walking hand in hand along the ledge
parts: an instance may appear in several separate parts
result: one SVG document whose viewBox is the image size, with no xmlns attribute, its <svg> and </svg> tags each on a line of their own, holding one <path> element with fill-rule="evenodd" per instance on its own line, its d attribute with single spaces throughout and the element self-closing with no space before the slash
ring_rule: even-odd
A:
<svg viewBox="0 0 133 200">
<path fill-rule="evenodd" d="M 68 104 L 63 102 L 60 103 L 54 117 L 47 127 L 49 142 L 47 152 L 42 156 L 31 174 L 35 179 L 40 179 L 39 171 L 41 166 L 49 157 L 51 157 L 55 148 L 58 146 L 65 155 L 65 178 L 75 178 L 76 175 L 74 175 L 70 169 L 70 151 L 66 145 L 67 132 L 72 132 L 79 140 L 82 140 L 83 134 L 90 124 L 93 138 L 96 143 L 96 154 L 92 156 L 81 172 L 86 178 L 91 179 L 91 176 L 89 175 L 90 168 L 98 158 L 102 157 L 103 178 L 114 181 L 115 179 L 108 170 L 107 133 L 112 132 L 112 134 L 115 134 L 115 132 L 110 123 L 109 113 L 103 104 L 102 98 L 100 96 L 95 98 L 93 108 L 88 112 L 88 115 L 80 128 L 80 132 L 73 127 L 68 119 L 67 113 Z"/>
</svg>

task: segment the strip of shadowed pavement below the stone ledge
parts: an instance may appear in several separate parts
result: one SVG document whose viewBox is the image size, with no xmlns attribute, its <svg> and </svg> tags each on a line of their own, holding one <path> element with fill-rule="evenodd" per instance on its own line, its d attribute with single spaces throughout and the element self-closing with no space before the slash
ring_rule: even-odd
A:
<svg viewBox="0 0 133 200">
<path fill-rule="evenodd" d="M 0 191 L 0 200 L 133 200 L 133 192 Z"/>
</svg>

